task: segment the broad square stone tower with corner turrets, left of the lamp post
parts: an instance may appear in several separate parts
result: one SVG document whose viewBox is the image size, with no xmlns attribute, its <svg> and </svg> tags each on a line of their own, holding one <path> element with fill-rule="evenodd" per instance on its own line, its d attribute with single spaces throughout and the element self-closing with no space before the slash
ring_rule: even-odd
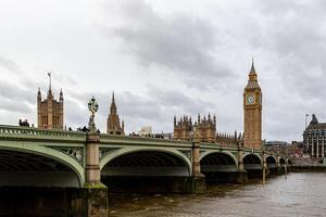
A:
<svg viewBox="0 0 326 217">
<path fill-rule="evenodd" d="M 37 126 L 43 129 L 63 129 L 63 93 L 59 101 L 52 94 L 51 86 L 48 95 L 42 100 L 40 89 L 37 92 Z"/>
</svg>

